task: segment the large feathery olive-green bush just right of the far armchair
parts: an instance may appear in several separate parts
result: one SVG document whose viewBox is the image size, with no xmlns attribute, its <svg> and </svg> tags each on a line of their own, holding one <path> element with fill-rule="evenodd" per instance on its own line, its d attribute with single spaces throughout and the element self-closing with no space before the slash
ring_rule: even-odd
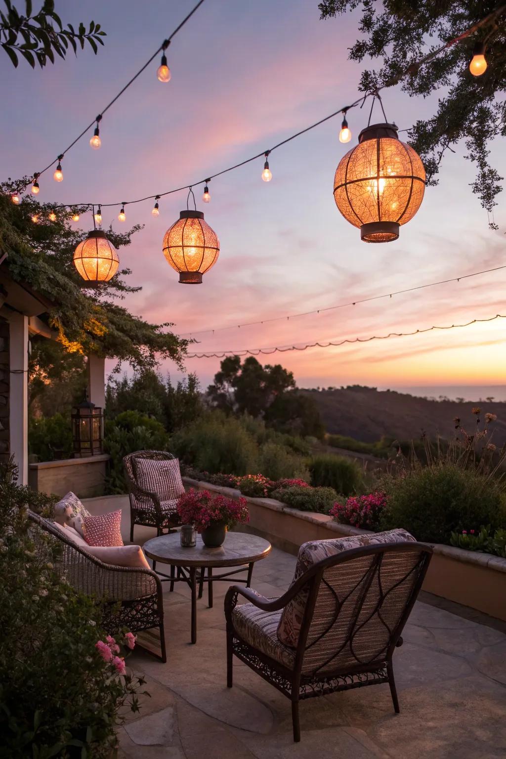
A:
<svg viewBox="0 0 506 759">
<path fill-rule="evenodd" d="M 217 474 L 258 470 L 258 446 L 240 420 L 212 411 L 176 433 L 174 451 L 185 464 Z"/>
</svg>

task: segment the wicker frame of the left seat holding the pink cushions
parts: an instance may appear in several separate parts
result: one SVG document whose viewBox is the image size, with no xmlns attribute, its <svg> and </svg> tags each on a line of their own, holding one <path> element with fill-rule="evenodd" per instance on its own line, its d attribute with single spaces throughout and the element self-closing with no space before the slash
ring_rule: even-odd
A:
<svg viewBox="0 0 506 759">
<path fill-rule="evenodd" d="M 58 541 L 61 553 L 55 570 L 74 590 L 105 601 L 104 626 L 110 635 L 127 627 L 132 632 L 159 628 L 162 662 L 167 661 L 163 625 L 162 584 L 156 572 L 142 567 L 122 567 L 105 564 L 72 540 L 69 540 L 51 521 L 28 512 L 33 522 L 33 537 L 37 531 L 49 533 Z M 118 603 L 121 604 L 118 610 Z M 146 649 L 148 650 L 148 649 Z M 152 651 L 149 651 L 152 653 Z"/>
</svg>

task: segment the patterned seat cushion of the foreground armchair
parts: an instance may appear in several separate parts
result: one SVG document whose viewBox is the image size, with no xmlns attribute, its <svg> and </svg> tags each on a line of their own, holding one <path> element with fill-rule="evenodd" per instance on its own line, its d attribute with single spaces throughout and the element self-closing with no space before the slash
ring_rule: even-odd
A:
<svg viewBox="0 0 506 759">
<path fill-rule="evenodd" d="M 240 638 L 271 659 L 293 669 L 295 652 L 284 646 L 276 635 L 280 617 L 281 609 L 277 612 L 264 612 L 254 603 L 243 603 L 232 612 L 232 622 Z"/>
</svg>

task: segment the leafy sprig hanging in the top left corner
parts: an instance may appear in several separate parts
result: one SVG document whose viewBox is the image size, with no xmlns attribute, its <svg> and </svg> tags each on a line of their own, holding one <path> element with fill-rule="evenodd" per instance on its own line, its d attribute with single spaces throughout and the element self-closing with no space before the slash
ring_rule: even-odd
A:
<svg viewBox="0 0 506 759">
<path fill-rule="evenodd" d="M 93 52 L 98 52 L 98 45 L 103 45 L 100 24 L 90 21 L 86 27 L 80 21 L 77 29 L 72 24 L 65 28 L 61 18 L 55 12 L 53 0 L 44 0 L 42 8 L 33 13 L 32 0 L 25 0 L 24 15 L 15 8 L 11 0 L 4 0 L 5 13 L 0 11 L 0 45 L 11 62 L 17 67 L 19 56 L 23 56 L 32 68 L 36 63 L 40 68 L 48 61 L 55 62 L 55 53 L 65 58 L 69 49 L 77 55 L 77 46 L 84 49 L 84 43 L 90 43 Z"/>
</svg>

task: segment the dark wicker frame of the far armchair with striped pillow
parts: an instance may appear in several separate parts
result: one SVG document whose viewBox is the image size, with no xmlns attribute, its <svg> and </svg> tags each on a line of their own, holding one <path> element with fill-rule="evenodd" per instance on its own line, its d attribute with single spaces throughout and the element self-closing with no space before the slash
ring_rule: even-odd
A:
<svg viewBox="0 0 506 759">
<path fill-rule="evenodd" d="M 136 524 L 142 524 L 144 527 L 155 527 L 157 536 L 161 535 L 164 529 L 170 532 L 171 528 L 178 524 L 175 501 L 160 502 L 157 493 L 149 493 L 148 490 L 143 490 L 139 486 L 136 470 L 137 458 L 170 461 L 175 457 L 167 451 L 136 451 L 124 457 L 123 464 L 127 475 L 130 498 L 130 541 L 134 540 L 134 526 Z"/>
</svg>

